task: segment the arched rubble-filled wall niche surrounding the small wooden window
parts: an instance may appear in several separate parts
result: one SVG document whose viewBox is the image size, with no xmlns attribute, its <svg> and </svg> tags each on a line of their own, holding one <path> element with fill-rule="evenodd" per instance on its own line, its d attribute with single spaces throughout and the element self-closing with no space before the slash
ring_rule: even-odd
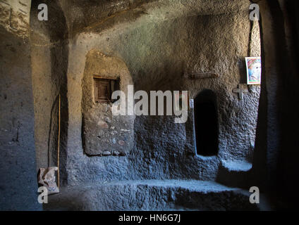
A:
<svg viewBox="0 0 299 225">
<path fill-rule="evenodd" d="M 128 96 L 130 72 L 118 58 L 90 51 L 86 58 L 83 89 L 83 148 L 87 155 L 126 155 L 133 148 L 133 116 L 112 115 L 112 103 L 94 101 L 94 75 L 119 82 Z"/>
</svg>

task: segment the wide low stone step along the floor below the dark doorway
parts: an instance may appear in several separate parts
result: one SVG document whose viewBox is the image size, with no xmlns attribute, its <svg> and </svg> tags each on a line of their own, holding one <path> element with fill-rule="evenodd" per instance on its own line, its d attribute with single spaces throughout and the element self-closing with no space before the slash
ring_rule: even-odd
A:
<svg viewBox="0 0 299 225">
<path fill-rule="evenodd" d="M 67 186 L 44 210 L 260 210 L 249 193 L 214 181 L 109 181 Z"/>
</svg>

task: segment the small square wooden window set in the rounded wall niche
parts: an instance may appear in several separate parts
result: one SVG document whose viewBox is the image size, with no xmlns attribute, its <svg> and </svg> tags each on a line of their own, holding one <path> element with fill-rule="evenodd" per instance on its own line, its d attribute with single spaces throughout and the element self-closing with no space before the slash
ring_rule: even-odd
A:
<svg viewBox="0 0 299 225">
<path fill-rule="evenodd" d="M 102 79 L 94 77 L 94 101 L 111 103 L 111 95 L 115 89 L 115 79 Z"/>
</svg>

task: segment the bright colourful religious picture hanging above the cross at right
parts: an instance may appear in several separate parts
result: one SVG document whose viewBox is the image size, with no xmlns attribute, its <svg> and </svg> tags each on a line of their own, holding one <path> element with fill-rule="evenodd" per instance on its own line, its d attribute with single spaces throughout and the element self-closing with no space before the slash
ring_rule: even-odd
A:
<svg viewBox="0 0 299 225">
<path fill-rule="evenodd" d="M 262 60 L 260 57 L 245 57 L 247 84 L 261 84 Z"/>
</svg>

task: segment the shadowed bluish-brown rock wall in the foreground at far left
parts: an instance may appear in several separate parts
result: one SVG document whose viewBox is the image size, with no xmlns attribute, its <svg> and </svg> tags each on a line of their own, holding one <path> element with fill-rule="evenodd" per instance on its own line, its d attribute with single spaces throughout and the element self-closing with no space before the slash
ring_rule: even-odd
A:
<svg viewBox="0 0 299 225">
<path fill-rule="evenodd" d="M 17 19 L 16 13 L 20 11 L 12 5 L 9 10 L 8 2 L 16 1 L 0 3 L 0 210 L 40 210 L 35 173 L 29 13 L 25 18 L 22 13 Z M 26 9 L 30 8 L 30 1 L 21 2 L 28 4 Z"/>
</svg>

